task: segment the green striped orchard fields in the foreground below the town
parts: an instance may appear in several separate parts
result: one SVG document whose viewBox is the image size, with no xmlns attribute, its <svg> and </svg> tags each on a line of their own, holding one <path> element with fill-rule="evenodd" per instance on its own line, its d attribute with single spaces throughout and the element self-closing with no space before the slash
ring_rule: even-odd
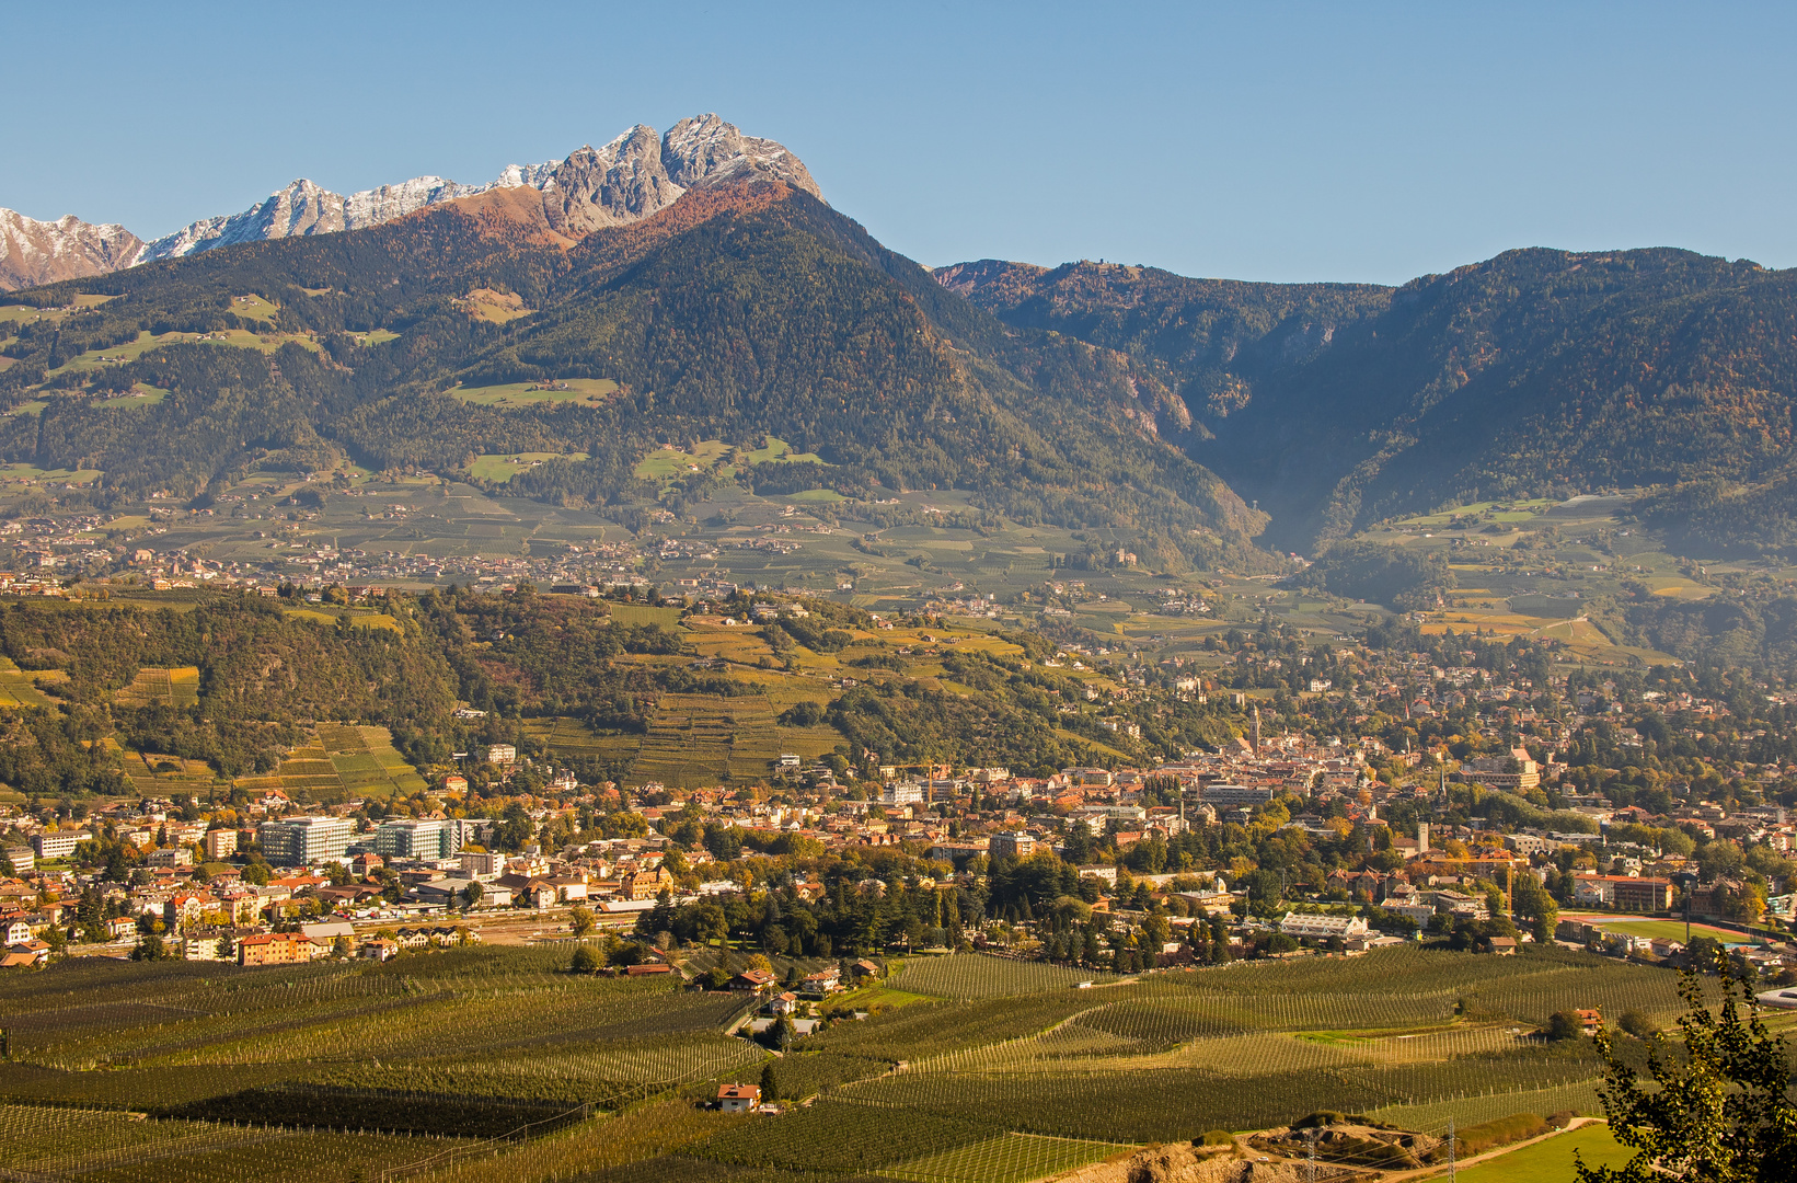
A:
<svg viewBox="0 0 1797 1183">
<path fill-rule="evenodd" d="M 341 755 L 354 730 L 325 730 L 320 752 Z M 676 953 L 692 973 L 719 956 Z M 1540 1043 L 1535 1025 L 1571 1005 L 1659 1021 L 1678 1005 L 1671 974 L 1563 949 L 1405 947 L 1146 978 L 952 955 L 911 958 L 769 1059 L 730 1034 L 753 1007 L 742 996 L 570 974 L 566 958 L 544 946 L 277 969 L 83 960 L 0 980 L 13 1030 L 0 1170 L 1028 1183 L 1323 1107 L 1425 1131 L 1590 1109 L 1590 1045 Z M 757 1079 L 809 1104 L 775 1116 L 692 1104 Z M 1560 1134 L 1474 1178 L 1545 1178 L 1527 1172 L 1598 1140 Z"/>
</svg>

